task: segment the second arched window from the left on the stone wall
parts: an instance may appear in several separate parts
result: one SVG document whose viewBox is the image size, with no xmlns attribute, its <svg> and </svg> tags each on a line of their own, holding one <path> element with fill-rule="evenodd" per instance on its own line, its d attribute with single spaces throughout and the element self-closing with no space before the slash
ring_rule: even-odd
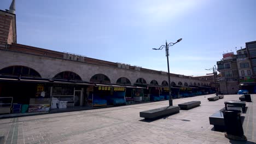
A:
<svg viewBox="0 0 256 144">
<path fill-rule="evenodd" d="M 56 74 L 53 79 L 82 81 L 81 77 L 72 71 L 62 71 L 61 73 Z"/>
</svg>

